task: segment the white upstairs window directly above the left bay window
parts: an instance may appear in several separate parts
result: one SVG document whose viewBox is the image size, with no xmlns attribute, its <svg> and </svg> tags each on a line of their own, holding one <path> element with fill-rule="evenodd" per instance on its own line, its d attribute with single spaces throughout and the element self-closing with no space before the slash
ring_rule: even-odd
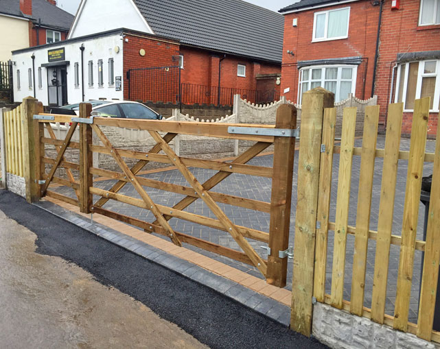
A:
<svg viewBox="0 0 440 349">
<path fill-rule="evenodd" d="M 312 42 L 348 38 L 350 8 L 314 13 Z"/>
</svg>

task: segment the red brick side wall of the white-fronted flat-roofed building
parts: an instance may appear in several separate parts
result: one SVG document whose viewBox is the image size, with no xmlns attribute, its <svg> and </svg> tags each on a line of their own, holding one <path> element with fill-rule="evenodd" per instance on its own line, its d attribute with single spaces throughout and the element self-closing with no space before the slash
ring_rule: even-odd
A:
<svg viewBox="0 0 440 349">
<path fill-rule="evenodd" d="M 128 40 L 128 42 L 126 42 Z M 144 49 L 145 56 L 141 56 L 139 51 Z M 174 40 L 161 39 L 154 37 L 139 37 L 126 34 L 124 38 L 124 99 L 128 97 L 128 69 L 148 68 L 148 67 L 168 67 L 178 64 L 176 56 L 178 56 L 179 45 Z M 174 73 L 170 71 L 170 73 Z M 141 80 L 134 83 L 132 75 L 132 88 L 130 91 L 130 99 L 141 99 L 143 101 L 160 98 L 163 102 L 175 102 L 176 91 L 170 88 L 166 95 L 154 95 L 155 91 L 159 91 L 159 82 L 154 82 L 154 86 L 146 86 Z M 139 75 L 137 75 L 139 76 Z M 174 86 L 174 84 L 173 84 Z M 141 91 L 143 90 L 143 91 Z M 164 91 L 162 88 L 161 91 Z M 177 91 L 178 94 L 178 91 Z"/>
</svg>

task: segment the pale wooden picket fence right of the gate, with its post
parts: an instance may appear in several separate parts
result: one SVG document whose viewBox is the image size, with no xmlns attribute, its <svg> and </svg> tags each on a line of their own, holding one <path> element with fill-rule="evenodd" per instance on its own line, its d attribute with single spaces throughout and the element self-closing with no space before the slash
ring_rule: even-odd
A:
<svg viewBox="0 0 440 349">
<path fill-rule="evenodd" d="M 312 96 L 316 97 L 316 95 Z M 319 96 L 318 96 L 319 97 Z M 305 103 L 312 102 L 305 98 Z M 323 104 L 323 97 L 317 99 Z M 316 104 L 316 100 L 314 101 Z M 323 131 L 321 140 L 316 144 L 321 146 L 319 158 L 318 182 L 313 184 L 318 190 L 316 204 L 316 249 L 314 251 L 314 271 L 304 274 L 305 267 L 312 270 L 307 261 L 307 254 L 313 249 L 301 240 L 301 215 L 307 210 L 300 205 L 298 193 L 297 224 L 295 231 L 295 263 L 293 289 L 301 289 L 307 285 L 306 280 L 312 280 L 308 285 L 307 296 L 313 295 L 316 301 L 330 304 L 337 309 L 344 309 L 352 314 L 369 317 L 379 324 L 387 324 L 396 330 L 413 333 L 422 339 L 440 342 L 440 333 L 432 330 L 435 296 L 437 293 L 437 278 L 440 259 L 440 139 L 437 139 L 435 153 L 426 153 L 430 99 L 428 97 L 415 101 L 413 115 L 413 130 L 410 139 L 410 150 L 400 150 L 400 135 L 403 117 L 403 104 L 391 104 L 386 123 L 386 142 L 384 149 L 376 149 L 379 121 L 379 106 L 368 106 L 364 115 L 364 130 L 362 147 L 355 147 L 356 108 L 345 108 L 343 113 L 343 130 L 340 145 L 334 143 L 334 125 L 336 110 L 321 108 Z M 322 110 L 323 109 L 323 110 Z M 302 116 L 304 122 L 304 115 Z M 319 131 L 318 131 L 319 132 Z M 303 129 L 301 126 L 301 147 L 303 146 Z M 316 147 L 316 145 L 315 145 Z M 312 152 L 312 151 L 310 151 Z M 335 221 L 330 221 L 330 205 L 332 192 L 332 171 L 334 171 L 334 154 L 339 154 L 337 198 Z M 352 174 L 352 160 L 360 156 L 360 175 L 357 196 L 356 226 L 349 226 L 349 200 Z M 382 186 L 380 192 L 380 207 L 378 213 L 378 230 L 370 229 L 371 198 L 375 158 L 383 158 Z M 402 233 L 393 234 L 393 208 L 395 206 L 395 186 L 399 160 L 408 160 L 406 176 L 406 191 L 404 200 L 404 215 L 402 217 Z M 419 216 L 419 201 L 421 195 L 421 180 L 424 163 L 434 163 L 432 192 L 429 208 L 426 241 L 416 240 L 417 219 Z M 301 165 L 300 165 L 301 166 Z M 310 165 L 309 165 L 310 166 Z M 301 167 L 300 167 L 301 169 Z M 402 180 L 403 178 L 400 178 Z M 298 181 L 301 181 L 299 173 Z M 334 184 L 334 182 L 333 182 Z M 298 186 L 300 183 L 298 184 Z M 306 190 L 309 191 L 310 188 Z M 309 191 L 310 192 L 310 191 Z M 300 215 L 300 216 L 298 216 Z M 314 222 L 312 221 L 311 224 Z M 333 251 L 328 250 L 329 237 L 334 234 Z M 351 297 L 344 298 L 344 278 L 347 271 L 345 261 L 347 253 L 347 234 L 354 235 L 354 260 L 351 274 Z M 299 239 L 300 238 L 300 239 Z M 310 239 L 313 241 L 314 239 Z M 374 280 L 371 309 L 364 306 L 364 287 L 367 268 L 367 250 L 369 241 L 375 240 Z M 400 260 L 397 274 L 394 316 L 385 314 L 386 290 L 389 285 L 388 270 L 391 245 L 400 246 Z M 417 324 L 408 322 L 410 308 L 410 292 L 413 280 L 415 251 L 424 251 L 424 269 L 421 276 L 421 294 Z M 333 262 L 331 271 L 331 293 L 325 293 L 327 253 L 332 252 Z M 300 265 L 301 263 L 301 265 Z M 295 273 L 298 273 L 296 276 Z M 312 276 L 312 277 L 311 277 Z M 328 278 L 328 276 L 327 276 Z M 310 290 L 313 289 L 313 293 Z M 304 309 L 308 309 L 310 298 L 292 294 L 292 326 L 306 335 L 310 334 L 311 311 L 305 317 Z M 298 310 L 297 310 L 298 309 Z M 309 327 L 308 327 L 309 326 Z M 304 330 L 307 328 L 307 330 Z"/>
</svg>

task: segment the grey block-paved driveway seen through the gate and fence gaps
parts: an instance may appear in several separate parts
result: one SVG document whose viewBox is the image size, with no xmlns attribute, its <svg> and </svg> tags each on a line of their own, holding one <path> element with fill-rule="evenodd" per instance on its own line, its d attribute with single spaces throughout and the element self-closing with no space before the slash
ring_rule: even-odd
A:
<svg viewBox="0 0 440 349">
<path fill-rule="evenodd" d="M 383 149 L 385 143 L 384 136 L 378 136 L 378 148 Z M 356 146 L 361 146 L 362 141 L 356 140 Z M 402 150 L 409 150 L 410 140 L 402 139 L 401 147 Z M 427 152 L 434 152 L 435 142 L 428 141 L 426 145 Z M 338 163 L 339 156 L 334 154 L 334 170 L 332 176 L 332 200 L 330 207 L 330 220 L 334 221 L 336 212 L 336 193 L 337 193 L 337 178 L 338 178 Z M 260 156 L 251 160 L 248 164 L 272 167 L 273 156 Z M 404 191 L 406 186 L 406 171 L 407 171 L 407 160 L 399 161 L 399 169 L 397 174 L 397 186 L 395 195 L 395 208 L 393 215 L 393 234 L 400 235 L 402 229 L 402 216 L 404 211 Z M 371 220 L 370 229 L 377 230 L 378 225 L 378 212 L 379 212 L 379 202 L 380 202 L 380 184 L 382 180 L 382 165 L 383 159 L 377 158 L 375 160 L 375 173 L 373 178 L 373 198 L 371 203 Z M 297 168 L 298 168 L 298 152 L 295 153 L 294 162 L 294 176 L 293 176 L 293 191 L 292 191 L 292 213 L 290 217 L 290 245 L 294 243 L 294 219 L 295 219 L 295 209 L 296 209 L 296 194 L 297 194 Z M 194 176 L 199 180 L 199 182 L 204 182 L 209 177 L 213 176 L 216 171 L 211 171 L 207 169 L 190 169 Z M 353 167 L 352 167 L 352 179 L 351 179 L 351 192 L 350 192 L 350 205 L 349 205 L 349 225 L 356 226 L 356 206 L 358 197 L 358 182 L 359 182 L 359 172 L 360 172 L 360 156 L 354 156 Z M 432 163 L 426 164 L 424 167 L 424 176 L 428 176 L 432 173 Z M 163 182 L 170 182 L 174 184 L 181 184 L 189 186 L 185 178 L 181 175 L 178 170 L 163 171 L 158 173 L 150 173 L 145 175 L 148 178 L 154 180 L 161 180 Z M 93 185 L 101 189 L 110 189 L 115 183 L 115 180 L 105 180 L 100 182 L 95 182 Z M 167 191 L 160 191 L 159 189 L 145 188 L 148 195 L 152 197 L 154 202 L 157 204 L 162 204 L 165 206 L 172 207 L 178 201 L 180 201 L 184 196 L 169 193 Z M 213 191 L 220 193 L 229 193 L 232 195 L 238 195 L 241 197 L 247 197 L 249 199 L 261 200 L 265 202 L 270 202 L 270 190 L 271 190 L 271 180 L 270 178 L 260 178 L 256 176 L 245 176 L 239 173 L 233 173 L 226 180 L 220 182 Z M 73 197 L 73 191 L 67 187 L 60 187 L 56 189 L 60 193 L 69 195 Z M 124 189 L 120 191 L 124 195 L 129 195 L 132 197 L 140 198 L 135 188 L 128 184 L 124 186 Z M 94 202 L 98 197 L 94 197 Z M 218 204 L 224 213 L 235 223 L 241 226 L 246 226 L 248 228 L 254 228 L 257 230 L 262 230 L 265 232 L 269 231 L 270 215 L 268 213 L 256 212 L 253 210 L 248 210 L 246 208 L 240 208 L 235 206 L 230 206 L 227 204 Z M 149 210 L 142 208 L 137 208 L 130 206 L 128 204 L 122 204 L 120 202 L 115 202 L 110 200 L 104 205 L 104 208 L 108 210 L 113 210 L 117 213 L 122 213 L 124 215 L 130 215 L 132 217 L 137 217 L 146 221 L 154 221 L 153 215 Z M 419 222 L 417 226 L 417 239 L 423 239 L 423 225 L 424 225 L 424 205 L 419 206 Z M 205 215 L 207 217 L 216 218 L 211 210 L 205 205 L 201 200 L 197 200 L 191 204 L 187 210 L 198 215 Z M 187 222 L 183 220 L 178 220 L 172 218 L 170 220 L 170 225 L 172 228 L 179 232 L 184 232 L 185 234 L 191 234 L 194 237 L 205 239 L 213 243 L 218 243 L 229 248 L 240 250 L 237 243 L 233 238 L 227 233 L 222 232 L 213 228 L 207 228 L 205 226 L 199 226 L 192 222 Z M 165 238 L 164 238 L 165 239 Z M 248 239 L 249 243 L 255 248 L 255 250 L 261 254 L 264 258 L 267 258 L 267 253 L 262 245 L 265 245 L 259 241 L 253 241 Z M 332 272 L 332 254 L 333 254 L 333 242 L 334 242 L 334 232 L 329 232 L 329 246 L 327 254 L 327 282 L 326 282 L 326 293 L 330 293 L 331 286 L 331 272 Z M 248 274 L 262 277 L 258 270 L 254 267 L 240 263 L 237 261 L 232 261 L 229 258 L 218 256 L 211 252 L 206 252 L 200 248 L 195 248 L 190 245 L 185 247 L 195 250 L 205 256 L 221 261 L 222 263 L 237 267 Z M 395 290 L 397 284 L 397 270 L 399 265 L 399 246 L 391 245 L 390 253 L 390 263 L 389 263 L 389 285 L 387 289 L 386 298 L 386 313 L 393 315 L 393 309 L 395 304 Z M 346 254 L 346 267 L 345 267 L 345 285 L 344 285 L 344 298 L 349 300 L 351 293 L 351 269 L 353 263 L 354 254 L 354 236 L 349 234 L 347 237 L 347 254 Z M 367 276 L 365 280 L 365 299 L 364 306 L 371 308 L 371 293 L 373 289 L 373 272 L 374 272 L 374 258 L 375 258 L 375 241 L 369 240 L 368 246 L 368 256 L 367 256 Z M 419 300 L 419 282 L 420 282 L 420 268 L 421 268 L 421 252 L 415 252 L 415 265 L 413 274 L 413 287 L 411 289 L 410 298 L 410 322 L 417 322 L 417 307 Z M 292 289 L 292 260 L 288 264 L 288 289 Z"/>
</svg>

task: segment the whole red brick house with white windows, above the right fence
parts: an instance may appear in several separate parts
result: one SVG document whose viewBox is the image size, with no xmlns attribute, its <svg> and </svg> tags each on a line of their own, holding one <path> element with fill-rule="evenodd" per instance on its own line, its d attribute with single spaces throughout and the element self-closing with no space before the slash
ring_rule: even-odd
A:
<svg viewBox="0 0 440 349">
<path fill-rule="evenodd" d="M 430 134 L 440 99 L 440 0 L 302 0 L 285 16 L 281 93 L 301 104 L 316 86 L 360 99 L 378 95 L 380 122 L 389 102 L 404 101 L 410 133 L 415 98 L 432 97 Z M 382 12 L 382 13 L 381 13 Z"/>
</svg>

